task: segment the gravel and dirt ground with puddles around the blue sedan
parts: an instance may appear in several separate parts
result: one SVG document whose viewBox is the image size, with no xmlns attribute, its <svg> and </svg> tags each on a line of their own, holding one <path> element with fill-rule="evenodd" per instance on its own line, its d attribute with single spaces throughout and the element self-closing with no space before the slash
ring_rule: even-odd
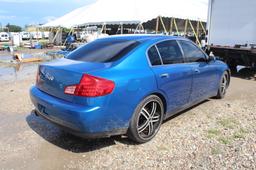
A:
<svg viewBox="0 0 256 170">
<path fill-rule="evenodd" d="M 256 169 L 256 81 L 166 121 L 154 140 L 85 140 L 31 114 L 36 66 L 0 66 L 0 169 Z"/>
</svg>

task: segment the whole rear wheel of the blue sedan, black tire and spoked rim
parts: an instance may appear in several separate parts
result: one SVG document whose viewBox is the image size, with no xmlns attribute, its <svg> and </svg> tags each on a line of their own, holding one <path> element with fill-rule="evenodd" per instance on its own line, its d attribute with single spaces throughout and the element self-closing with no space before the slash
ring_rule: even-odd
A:
<svg viewBox="0 0 256 170">
<path fill-rule="evenodd" d="M 163 122 L 164 105 L 156 95 L 150 95 L 136 107 L 128 129 L 128 137 L 145 143 L 155 137 Z M 146 134 L 147 133 L 147 134 Z"/>
</svg>

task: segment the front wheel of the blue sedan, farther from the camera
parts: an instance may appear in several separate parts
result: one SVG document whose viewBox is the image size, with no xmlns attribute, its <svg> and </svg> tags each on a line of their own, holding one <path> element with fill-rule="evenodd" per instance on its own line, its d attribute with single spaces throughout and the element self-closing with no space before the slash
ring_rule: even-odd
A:
<svg viewBox="0 0 256 170">
<path fill-rule="evenodd" d="M 230 81 L 230 75 L 228 74 L 227 71 L 225 71 L 221 76 L 218 93 L 217 93 L 217 96 L 215 96 L 216 99 L 223 99 L 225 97 L 227 88 L 229 86 L 229 81 Z"/>
</svg>

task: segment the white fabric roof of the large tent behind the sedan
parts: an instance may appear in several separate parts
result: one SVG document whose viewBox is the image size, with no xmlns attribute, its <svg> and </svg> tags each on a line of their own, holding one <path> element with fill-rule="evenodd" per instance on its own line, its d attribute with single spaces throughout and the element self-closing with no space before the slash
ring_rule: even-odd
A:
<svg viewBox="0 0 256 170">
<path fill-rule="evenodd" d="M 206 21 L 207 10 L 208 0 L 97 0 L 43 26 L 140 23 L 157 16 Z"/>
</svg>

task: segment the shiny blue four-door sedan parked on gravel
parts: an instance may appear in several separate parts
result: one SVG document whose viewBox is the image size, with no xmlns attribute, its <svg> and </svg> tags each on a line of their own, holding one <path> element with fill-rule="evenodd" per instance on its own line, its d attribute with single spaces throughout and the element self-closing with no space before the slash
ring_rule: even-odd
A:
<svg viewBox="0 0 256 170">
<path fill-rule="evenodd" d="M 144 143 L 170 116 L 223 98 L 229 82 L 228 66 L 185 38 L 112 36 L 41 64 L 30 96 L 36 115 L 70 133 Z"/>
</svg>

